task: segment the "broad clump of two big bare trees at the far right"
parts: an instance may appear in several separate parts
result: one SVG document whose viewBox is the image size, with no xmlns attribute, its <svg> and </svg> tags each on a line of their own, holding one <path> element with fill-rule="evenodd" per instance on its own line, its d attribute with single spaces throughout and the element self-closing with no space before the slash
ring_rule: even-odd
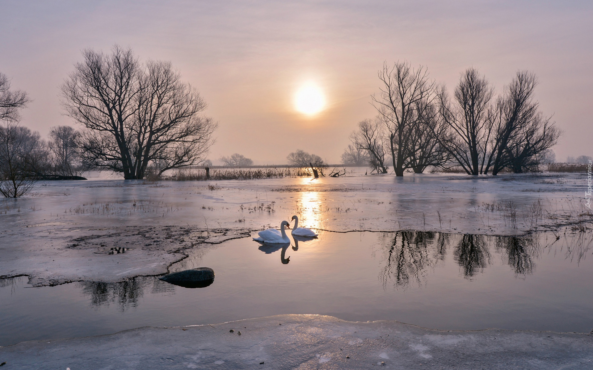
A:
<svg viewBox="0 0 593 370">
<path fill-rule="evenodd" d="M 468 68 L 449 100 L 439 92 L 441 120 L 447 130 L 436 135 L 455 165 L 469 175 L 510 169 L 534 170 L 561 132 L 539 111 L 533 94 L 537 78 L 518 71 L 498 98 L 476 69 Z"/>
</svg>

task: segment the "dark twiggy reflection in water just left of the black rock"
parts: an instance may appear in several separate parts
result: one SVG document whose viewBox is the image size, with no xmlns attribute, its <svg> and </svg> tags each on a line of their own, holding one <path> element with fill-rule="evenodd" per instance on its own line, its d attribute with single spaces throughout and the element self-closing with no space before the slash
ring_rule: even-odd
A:
<svg viewBox="0 0 593 370">
<path fill-rule="evenodd" d="M 139 276 L 123 282 L 84 281 L 80 283 L 82 292 L 88 295 L 91 305 L 117 304 L 119 311 L 137 307 L 138 300 L 149 289 L 151 293 L 174 292 L 173 285 L 151 276 Z"/>
</svg>

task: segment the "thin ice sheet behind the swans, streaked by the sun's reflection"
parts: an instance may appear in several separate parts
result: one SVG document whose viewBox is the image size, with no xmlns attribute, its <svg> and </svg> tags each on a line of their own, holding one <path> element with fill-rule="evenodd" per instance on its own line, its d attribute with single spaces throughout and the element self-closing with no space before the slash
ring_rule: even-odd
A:
<svg viewBox="0 0 593 370">
<path fill-rule="evenodd" d="M 27 275 L 38 286 L 164 274 L 184 249 L 206 247 L 207 237 L 245 236 L 293 214 L 301 226 L 331 231 L 515 235 L 583 227 L 592 218 L 583 202 L 585 180 L 579 173 L 427 173 L 45 182 L 30 197 L 0 203 L 0 276 Z M 125 255 L 106 253 L 130 246 Z"/>
</svg>

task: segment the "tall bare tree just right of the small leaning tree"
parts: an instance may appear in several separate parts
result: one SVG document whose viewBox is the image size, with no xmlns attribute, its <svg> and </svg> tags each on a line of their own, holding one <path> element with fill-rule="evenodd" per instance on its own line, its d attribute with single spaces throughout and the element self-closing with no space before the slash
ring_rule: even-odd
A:
<svg viewBox="0 0 593 370">
<path fill-rule="evenodd" d="M 434 83 L 425 67 L 413 69 L 405 61 L 393 67 L 384 64 L 378 76 L 381 94 L 372 99 L 387 128 L 393 170 L 396 176 L 403 176 L 404 170 L 412 167 L 409 159 L 416 152 L 412 132 L 424 114 L 422 110 L 433 105 Z"/>
</svg>

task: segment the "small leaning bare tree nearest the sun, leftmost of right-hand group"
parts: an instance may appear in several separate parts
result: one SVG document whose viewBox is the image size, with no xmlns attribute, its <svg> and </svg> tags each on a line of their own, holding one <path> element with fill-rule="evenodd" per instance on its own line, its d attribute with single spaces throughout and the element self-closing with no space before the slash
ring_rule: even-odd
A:
<svg viewBox="0 0 593 370">
<path fill-rule="evenodd" d="M 350 134 L 350 141 L 356 149 L 368 153 L 368 163 L 377 173 L 387 173 L 384 126 L 379 118 L 360 121 L 358 130 Z"/>
</svg>

